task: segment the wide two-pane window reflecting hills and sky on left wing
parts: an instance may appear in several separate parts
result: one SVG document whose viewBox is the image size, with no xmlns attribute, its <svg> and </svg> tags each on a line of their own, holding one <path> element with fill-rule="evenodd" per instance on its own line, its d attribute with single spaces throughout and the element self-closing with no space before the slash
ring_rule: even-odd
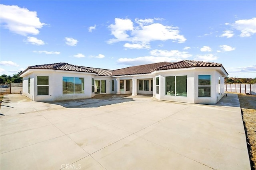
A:
<svg viewBox="0 0 256 170">
<path fill-rule="evenodd" d="M 62 78 L 63 94 L 82 94 L 84 93 L 84 78 L 63 77 Z"/>
</svg>

